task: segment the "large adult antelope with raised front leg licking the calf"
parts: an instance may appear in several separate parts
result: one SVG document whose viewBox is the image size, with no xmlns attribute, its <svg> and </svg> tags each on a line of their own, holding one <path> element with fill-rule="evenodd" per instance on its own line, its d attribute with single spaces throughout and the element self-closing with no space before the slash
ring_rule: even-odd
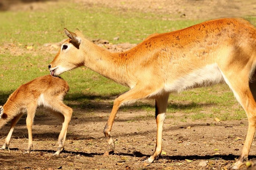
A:
<svg viewBox="0 0 256 170">
<path fill-rule="evenodd" d="M 226 82 L 244 108 L 249 128 L 242 154 L 232 166 L 248 159 L 256 128 L 256 102 L 250 89 L 256 68 L 256 28 L 241 18 L 203 22 L 169 33 L 153 34 L 136 47 L 111 53 L 86 40 L 82 33 L 64 29 L 69 37 L 49 65 L 51 75 L 86 66 L 131 88 L 114 100 L 104 128 L 114 151 L 110 131 L 118 108 L 127 101 L 156 100 L 156 149 L 148 163 L 161 154 L 162 130 L 171 92 Z"/>
</svg>

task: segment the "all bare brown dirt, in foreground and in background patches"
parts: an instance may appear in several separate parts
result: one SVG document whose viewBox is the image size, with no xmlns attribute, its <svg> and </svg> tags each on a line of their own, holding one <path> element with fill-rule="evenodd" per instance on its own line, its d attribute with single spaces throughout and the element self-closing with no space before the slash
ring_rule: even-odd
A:
<svg viewBox="0 0 256 170">
<path fill-rule="evenodd" d="M 2 2 L 2 1 L 1 1 Z M 19 4 L 20 2 L 21 4 Z M 26 2 L 26 1 L 23 1 Z M 107 5 L 118 10 L 139 10 L 179 15 L 189 19 L 218 18 L 223 16 L 256 15 L 256 1 L 76 1 L 86 7 Z M 56 2 L 52 2 L 56 3 Z M 2 3 L 4 10 L 36 10 L 47 7 L 44 1 L 17 1 L 17 4 Z M 47 3 L 49 5 L 49 3 Z M 31 8 L 32 6 L 32 8 Z M 184 15 L 185 14 L 185 15 Z M 104 41 L 95 40 L 102 46 Z M 18 48 L 6 44 L 15 54 Z M 122 51 L 135 44 L 105 44 L 110 51 Z M 40 50 L 53 51 L 54 44 L 46 44 Z M 17 51 L 15 49 L 17 48 Z M 6 48 L 3 48 L 6 49 Z M 117 114 L 111 134 L 115 140 L 115 152 L 110 152 L 104 140 L 103 128 L 111 111 L 110 100 L 97 102 L 92 99 L 88 108 L 74 108 L 68 129 L 65 150 L 60 156 L 53 156 L 57 148 L 57 138 L 61 123 L 57 118 L 38 109 L 33 126 L 34 147 L 31 154 L 23 155 L 28 144 L 25 116 L 16 126 L 10 143 L 10 150 L 0 151 L 0 169 L 164 169 L 164 170 L 226 170 L 241 154 L 248 122 L 200 120 L 181 122 L 167 118 L 163 132 L 162 156 L 152 164 L 143 163 L 154 150 L 156 143 L 156 123 L 146 111 L 121 110 Z M 96 102 L 96 104 L 95 104 Z M 93 112 L 90 108 L 93 107 Z M 207 109 L 207 107 L 206 107 Z M 183 114 L 183 113 L 177 113 Z M 141 116 L 141 118 L 138 118 Z M 133 121 L 132 121 L 133 120 Z M 10 123 L 1 129 L 0 144 L 4 143 Z M 252 166 L 256 169 L 255 142 L 250 150 Z M 244 165 L 241 169 L 247 169 Z"/>
</svg>

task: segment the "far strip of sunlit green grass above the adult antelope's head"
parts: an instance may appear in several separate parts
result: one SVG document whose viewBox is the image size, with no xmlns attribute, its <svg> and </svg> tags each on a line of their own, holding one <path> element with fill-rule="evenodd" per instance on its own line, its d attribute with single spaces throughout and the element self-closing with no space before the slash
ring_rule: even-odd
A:
<svg viewBox="0 0 256 170">
<path fill-rule="evenodd" d="M 85 10 L 72 3 L 69 7 L 60 4 L 43 12 L 0 12 L 0 43 L 7 41 L 40 45 L 58 42 L 66 38 L 64 27 L 71 31 L 78 28 L 89 39 L 138 43 L 152 33 L 170 32 L 201 22 L 164 21 L 156 14 L 147 16 L 149 17 L 145 18 L 145 14 L 140 12 L 124 13 L 99 7 Z M 117 36 L 120 37 L 119 40 L 114 41 L 113 38 Z"/>
</svg>

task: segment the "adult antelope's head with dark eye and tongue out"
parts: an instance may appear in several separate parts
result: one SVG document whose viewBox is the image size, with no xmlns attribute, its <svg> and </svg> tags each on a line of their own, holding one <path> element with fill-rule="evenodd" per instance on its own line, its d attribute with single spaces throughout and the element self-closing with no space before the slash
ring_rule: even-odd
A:
<svg viewBox="0 0 256 170">
<path fill-rule="evenodd" d="M 72 70 L 83 65 L 81 49 L 82 33 L 79 32 L 79 30 L 77 30 L 76 33 L 73 33 L 65 28 L 64 32 L 69 39 L 63 42 L 60 50 L 48 66 L 50 74 L 53 76 L 58 76 L 65 71 Z M 80 34 L 81 36 L 78 36 L 77 34 Z"/>
</svg>

